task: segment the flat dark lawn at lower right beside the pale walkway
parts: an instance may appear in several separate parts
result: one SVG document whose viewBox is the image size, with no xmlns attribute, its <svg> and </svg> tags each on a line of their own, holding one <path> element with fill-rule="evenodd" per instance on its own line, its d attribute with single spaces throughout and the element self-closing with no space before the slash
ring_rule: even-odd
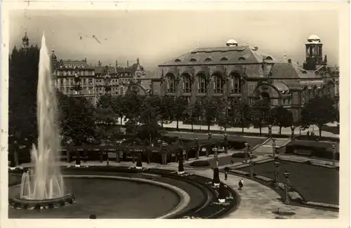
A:
<svg viewBox="0 0 351 228">
<path fill-rule="evenodd" d="M 284 180 L 284 171 L 290 173 L 291 186 L 307 201 L 339 204 L 339 171 L 312 166 L 304 163 L 282 161 L 280 165 L 280 181 Z M 249 172 L 249 168 L 241 168 Z M 263 175 L 274 179 L 273 162 L 255 166 L 256 175 Z"/>
</svg>

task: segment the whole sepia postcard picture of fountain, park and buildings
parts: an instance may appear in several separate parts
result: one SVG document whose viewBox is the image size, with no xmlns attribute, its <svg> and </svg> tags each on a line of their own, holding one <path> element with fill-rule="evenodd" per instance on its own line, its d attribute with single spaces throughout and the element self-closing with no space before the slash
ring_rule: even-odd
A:
<svg viewBox="0 0 351 228">
<path fill-rule="evenodd" d="M 339 11 L 7 15 L 1 219 L 340 217 Z"/>
</svg>

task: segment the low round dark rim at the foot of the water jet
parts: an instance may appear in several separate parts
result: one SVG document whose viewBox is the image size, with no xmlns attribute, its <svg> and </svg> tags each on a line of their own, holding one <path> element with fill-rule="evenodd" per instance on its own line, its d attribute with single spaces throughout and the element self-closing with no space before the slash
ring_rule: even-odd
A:
<svg viewBox="0 0 351 228">
<path fill-rule="evenodd" d="M 60 208 L 74 203 L 75 197 L 73 194 L 53 199 L 19 199 L 13 198 L 8 200 L 8 204 L 15 209 L 22 210 L 45 210 L 51 208 Z"/>
</svg>

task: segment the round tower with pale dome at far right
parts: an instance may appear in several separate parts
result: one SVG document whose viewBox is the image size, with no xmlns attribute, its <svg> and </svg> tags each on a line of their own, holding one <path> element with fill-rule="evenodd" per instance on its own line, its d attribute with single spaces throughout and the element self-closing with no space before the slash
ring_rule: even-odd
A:
<svg viewBox="0 0 351 228">
<path fill-rule="evenodd" d="M 323 43 L 317 35 L 310 35 L 307 39 L 306 60 L 303 68 L 307 70 L 316 70 L 319 67 L 326 65 L 326 58 L 323 61 Z"/>
</svg>

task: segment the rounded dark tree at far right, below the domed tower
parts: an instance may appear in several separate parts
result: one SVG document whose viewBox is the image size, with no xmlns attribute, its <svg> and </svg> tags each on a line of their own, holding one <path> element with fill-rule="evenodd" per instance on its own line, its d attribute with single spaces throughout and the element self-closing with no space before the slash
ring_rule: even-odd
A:
<svg viewBox="0 0 351 228">
<path fill-rule="evenodd" d="M 317 125 L 321 137 L 323 126 L 339 118 L 338 109 L 334 105 L 334 101 L 328 96 L 310 99 L 301 110 L 301 125 L 305 128 L 312 124 Z"/>
</svg>

